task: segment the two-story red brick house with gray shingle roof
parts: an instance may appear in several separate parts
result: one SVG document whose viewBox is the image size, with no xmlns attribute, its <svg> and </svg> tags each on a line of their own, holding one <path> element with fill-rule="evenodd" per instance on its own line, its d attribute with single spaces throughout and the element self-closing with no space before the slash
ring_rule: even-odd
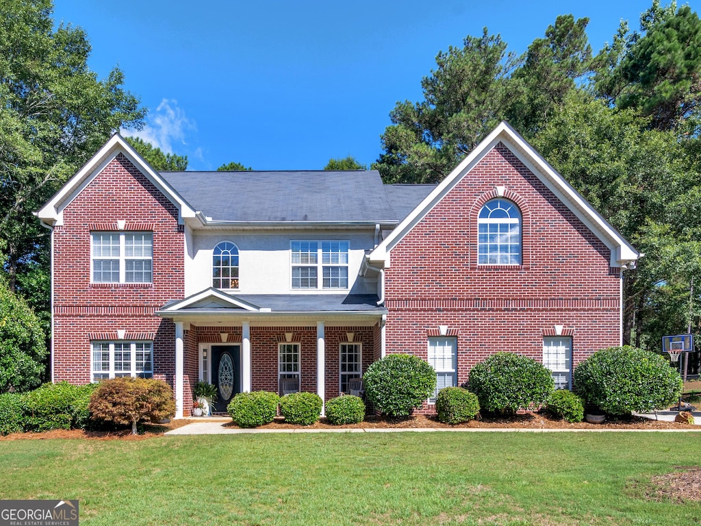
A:
<svg viewBox="0 0 701 526">
<path fill-rule="evenodd" d="M 115 135 L 38 213 L 54 381 L 198 379 L 324 400 L 386 353 L 439 386 L 515 351 L 571 384 L 620 343 L 632 248 L 508 124 L 438 185 L 351 172 L 154 171 Z M 425 410 L 431 410 L 430 401 Z"/>
</svg>

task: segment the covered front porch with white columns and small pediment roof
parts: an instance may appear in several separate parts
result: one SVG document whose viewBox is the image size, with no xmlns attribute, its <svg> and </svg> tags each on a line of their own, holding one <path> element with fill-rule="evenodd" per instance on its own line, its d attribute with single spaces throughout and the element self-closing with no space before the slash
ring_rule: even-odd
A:
<svg viewBox="0 0 701 526">
<path fill-rule="evenodd" d="M 176 417 L 193 386 L 217 386 L 215 412 L 236 393 L 308 391 L 324 402 L 383 356 L 386 309 L 372 295 L 233 296 L 207 289 L 158 311 L 175 323 Z"/>
</svg>

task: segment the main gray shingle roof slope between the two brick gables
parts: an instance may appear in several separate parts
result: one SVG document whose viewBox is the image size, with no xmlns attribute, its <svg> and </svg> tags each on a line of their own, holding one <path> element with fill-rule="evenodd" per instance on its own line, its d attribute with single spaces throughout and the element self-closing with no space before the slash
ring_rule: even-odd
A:
<svg viewBox="0 0 701 526">
<path fill-rule="evenodd" d="M 397 222 L 376 170 L 161 172 L 215 221 Z M 418 203 L 418 201 L 416 201 Z"/>
</svg>

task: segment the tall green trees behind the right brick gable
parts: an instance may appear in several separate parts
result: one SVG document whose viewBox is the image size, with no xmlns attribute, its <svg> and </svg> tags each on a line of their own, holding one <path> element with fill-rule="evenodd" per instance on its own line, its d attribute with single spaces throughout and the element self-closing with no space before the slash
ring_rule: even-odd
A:
<svg viewBox="0 0 701 526">
<path fill-rule="evenodd" d="M 699 327 L 701 22 L 654 0 L 596 54 L 587 23 L 561 15 L 520 56 L 486 28 L 440 52 L 423 100 L 390 113 L 373 168 L 385 182 L 438 182 L 510 121 L 644 252 L 624 274 L 624 337 L 657 349 Z"/>
</svg>

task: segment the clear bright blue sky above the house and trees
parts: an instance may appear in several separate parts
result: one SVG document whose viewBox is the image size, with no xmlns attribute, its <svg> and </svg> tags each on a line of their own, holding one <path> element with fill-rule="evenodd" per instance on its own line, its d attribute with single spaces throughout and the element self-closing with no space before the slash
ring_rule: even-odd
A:
<svg viewBox="0 0 701 526">
<path fill-rule="evenodd" d="M 523 53 L 557 15 L 572 13 L 590 18 L 596 52 L 620 20 L 637 29 L 651 4 L 55 0 L 54 18 L 83 27 L 90 67 L 100 79 L 121 67 L 149 109 L 147 127 L 126 135 L 188 156 L 190 170 L 229 161 L 315 170 L 347 155 L 375 161 L 395 103 L 421 100 L 437 53 L 484 26 Z"/>
</svg>

